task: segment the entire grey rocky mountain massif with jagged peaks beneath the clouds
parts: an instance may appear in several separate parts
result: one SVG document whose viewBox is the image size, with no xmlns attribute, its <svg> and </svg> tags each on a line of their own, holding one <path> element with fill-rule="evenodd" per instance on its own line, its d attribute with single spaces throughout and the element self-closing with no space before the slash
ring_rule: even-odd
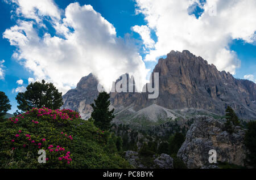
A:
<svg viewBox="0 0 256 180">
<path fill-rule="evenodd" d="M 152 71 L 152 84 L 154 72 L 159 73 L 158 98 L 149 99 L 148 92 L 110 94 L 111 108 L 115 108 L 117 117 L 115 122 L 141 118 L 158 122 L 159 119 L 186 118 L 196 114 L 224 115 L 228 105 L 238 117 L 256 119 L 256 84 L 235 79 L 229 72 L 220 72 L 188 50 L 171 51 L 165 59 L 159 59 Z M 129 81 L 129 75 L 126 74 L 126 78 Z M 98 95 L 97 84 L 98 80 L 92 74 L 82 78 L 76 89 L 63 96 L 63 108 L 77 109 L 83 118 L 89 118 L 92 111 L 89 104 Z"/>
</svg>

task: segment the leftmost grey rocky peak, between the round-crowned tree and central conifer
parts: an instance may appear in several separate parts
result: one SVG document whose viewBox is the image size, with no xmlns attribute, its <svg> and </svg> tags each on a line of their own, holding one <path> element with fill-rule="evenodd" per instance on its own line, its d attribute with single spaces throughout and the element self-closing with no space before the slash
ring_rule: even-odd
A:
<svg viewBox="0 0 256 180">
<path fill-rule="evenodd" d="M 77 110 L 83 119 L 90 118 L 92 104 L 98 96 L 98 80 L 91 73 L 83 77 L 75 89 L 69 90 L 63 96 L 63 106 L 61 108 Z"/>
</svg>

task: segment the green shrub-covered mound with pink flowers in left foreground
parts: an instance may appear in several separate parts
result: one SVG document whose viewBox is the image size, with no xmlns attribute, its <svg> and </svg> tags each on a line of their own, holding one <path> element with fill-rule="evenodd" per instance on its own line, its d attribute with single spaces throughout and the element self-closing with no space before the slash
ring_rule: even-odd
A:
<svg viewBox="0 0 256 180">
<path fill-rule="evenodd" d="M 0 168 L 131 168 L 117 150 L 106 151 L 117 149 L 115 139 L 72 110 L 35 108 L 0 122 Z M 38 163 L 39 149 L 46 164 Z"/>
</svg>

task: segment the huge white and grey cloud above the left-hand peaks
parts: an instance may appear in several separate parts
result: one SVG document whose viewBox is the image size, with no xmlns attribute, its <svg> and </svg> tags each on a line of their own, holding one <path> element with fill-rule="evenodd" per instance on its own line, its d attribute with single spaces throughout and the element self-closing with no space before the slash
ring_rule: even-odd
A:
<svg viewBox="0 0 256 180">
<path fill-rule="evenodd" d="M 15 0 L 16 13 L 32 20 L 20 18 L 16 25 L 6 29 L 3 37 L 16 46 L 13 57 L 34 73 L 34 80 L 45 79 L 65 93 L 82 76 L 92 72 L 110 91 L 113 81 L 130 72 L 142 89 L 148 70 L 135 45 L 130 46 L 126 39 L 117 37 L 113 25 L 92 6 L 71 3 L 61 16 L 61 10 L 51 0 L 29 1 L 28 6 L 24 1 Z M 44 8 L 48 5 L 49 8 Z M 40 20 L 44 16 L 55 19 L 50 21 L 55 36 L 42 25 Z M 44 28 L 46 33 L 39 36 L 38 28 Z"/>
</svg>

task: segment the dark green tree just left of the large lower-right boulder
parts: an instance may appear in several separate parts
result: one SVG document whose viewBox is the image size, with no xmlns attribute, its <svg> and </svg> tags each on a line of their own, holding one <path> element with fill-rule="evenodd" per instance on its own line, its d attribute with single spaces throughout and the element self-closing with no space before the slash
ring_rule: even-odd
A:
<svg viewBox="0 0 256 180">
<path fill-rule="evenodd" d="M 169 140 L 169 155 L 177 154 L 181 145 L 185 141 L 185 136 L 180 132 L 176 132 Z"/>
</svg>

